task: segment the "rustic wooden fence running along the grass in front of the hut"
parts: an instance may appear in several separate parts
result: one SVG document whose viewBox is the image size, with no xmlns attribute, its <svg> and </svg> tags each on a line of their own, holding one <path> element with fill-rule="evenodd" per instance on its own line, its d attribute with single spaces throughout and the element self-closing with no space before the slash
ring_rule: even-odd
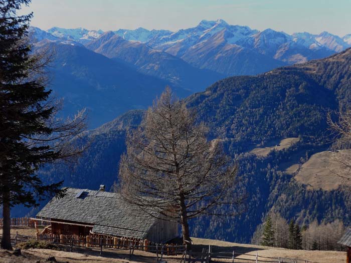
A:
<svg viewBox="0 0 351 263">
<path fill-rule="evenodd" d="M 1 234 L 0 234 L 1 237 Z M 48 242 L 60 243 L 62 245 L 68 246 L 70 251 L 73 251 L 74 247 L 84 248 L 89 247 L 90 249 L 97 249 L 99 254 L 105 251 L 118 251 L 123 250 L 124 253 L 129 253 L 129 259 L 131 259 L 135 250 L 143 250 L 148 252 L 155 253 L 156 262 L 162 261 L 163 256 L 165 255 L 182 255 L 182 257 L 178 257 L 180 262 L 184 263 L 209 263 L 209 262 L 223 262 L 221 259 L 226 259 L 226 262 L 232 263 L 321 263 L 316 261 L 311 261 L 308 259 L 302 258 L 287 258 L 287 257 L 270 257 L 270 256 L 261 256 L 256 252 L 256 254 L 250 253 L 237 253 L 234 250 L 232 252 L 229 251 L 218 251 L 213 252 L 211 245 L 209 245 L 209 249 L 203 249 L 202 252 L 196 251 L 186 251 L 184 245 L 171 245 L 171 244 L 141 244 L 137 242 L 133 238 L 118 238 L 111 237 L 107 238 L 106 236 L 98 236 L 96 235 L 93 238 L 87 240 L 87 236 L 68 236 L 68 235 L 52 235 L 45 234 L 39 236 L 26 236 L 20 234 L 12 234 L 11 240 L 13 245 L 16 246 L 19 242 L 24 242 L 28 240 L 46 240 Z M 119 241 L 115 241 L 119 240 Z M 124 242 L 123 242 L 124 240 Z M 95 250 L 94 249 L 94 250 Z M 215 259 L 215 260 L 212 260 Z M 228 260 L 229 259 L 229 260 Z"/>
</svg>

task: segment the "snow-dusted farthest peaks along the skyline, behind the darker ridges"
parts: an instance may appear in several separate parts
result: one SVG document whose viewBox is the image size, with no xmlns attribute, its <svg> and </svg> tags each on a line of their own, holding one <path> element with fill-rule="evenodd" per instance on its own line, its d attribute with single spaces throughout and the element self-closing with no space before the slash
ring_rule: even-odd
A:
<svg viewBox="0 0 351 263">
<path fill-rule="evenodd" d="M 82 44 L 88 40 L 98 39 L 103 35 L 101 30 L 52 28 L 47 31 L 57 38 L 72 40 Z M 319 35 L 310 33 L 294 33 L 288 35 L 266 29 L 262 32 L 247 26 L 229 25 L 224 20 L 203 20 L 194 28 L 181 29 L 177 32 L 168 30 L 117 30 L 111 32 L 126 41 L 144 43 L 152 49 L 164 51 L 182 58 L 198 68 L 206 68 L 226 76 L 241 74 L 257 74 L 265 69 L 247 71 L 245 66 L 230 68 L 228 61 L 235 60 L 238 53 L 245 56 L 265 57 L 265 63 L 272 68 L 294 63 L 306 62 L 311 59 L 326 57 L 351 46 L 351 35 L 340 38 L 328 32 Z M 106 40 L 106 36 L 104 36 Z M 206 52 L 204 55 L 203 52 Z M 261 58 L 262 59 L 262 58 Z M 225 60 L 225 61 L 222 61 Z M 205 64 L 204 64 L 205 62 Z M 217 67 L 227 64 L 227 68 Z M 215 65 L 213 65 L 215 64 Z M 211 66 L 210 66 L 211 65 Z M 260 66 L 260 65 L 259 65 Z M 247 71 L 247 73 L 245 73 Z"/>
</svg>

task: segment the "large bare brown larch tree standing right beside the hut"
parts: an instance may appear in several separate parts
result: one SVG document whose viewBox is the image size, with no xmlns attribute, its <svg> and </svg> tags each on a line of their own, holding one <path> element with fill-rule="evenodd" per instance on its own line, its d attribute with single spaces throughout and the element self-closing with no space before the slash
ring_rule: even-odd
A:
<svg viewBox="0 0 351 263">
<path fill-rule="evenodd" d="M 154 101 L 138 129 L 126 139 L 119 180 L 122 196 L 152 215 L 182 225 L 190 247 L 188 220 L 200 215 L 233 215 L 237 167 L 220 140 L 208 141 L 208 129 L 183 101 L 166 90 Z"/>
</svg>

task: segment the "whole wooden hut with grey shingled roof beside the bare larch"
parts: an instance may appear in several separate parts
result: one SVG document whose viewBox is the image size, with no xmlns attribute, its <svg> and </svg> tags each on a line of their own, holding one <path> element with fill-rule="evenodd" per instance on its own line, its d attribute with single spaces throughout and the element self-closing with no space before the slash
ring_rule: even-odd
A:
<svg viewBox="0 0 351 263">
<path fill-rule="evenodd" d="M 165 242 L 178 236 L 175 222 L 161 220 L 127 203 L 118 193 L 67 188 L 67 194 L 53 198 L 34 220 L 49 221 L 57 235 L 98 234 Z"/>
</svg>

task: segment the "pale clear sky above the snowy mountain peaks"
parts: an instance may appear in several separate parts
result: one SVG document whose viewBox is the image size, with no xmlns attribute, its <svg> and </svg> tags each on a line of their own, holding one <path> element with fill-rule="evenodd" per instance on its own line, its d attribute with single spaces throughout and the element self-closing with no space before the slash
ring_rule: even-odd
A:
<svg viewBox="0 0 351 263">
<path fill-rule="evenodd" d="M 117 29 L 195 27 L 223 19 L 252 29 L 351 34 L 351 0 L 32 0 L 20 14 L 34 12 L 32 26 Z"/>
</svg>

